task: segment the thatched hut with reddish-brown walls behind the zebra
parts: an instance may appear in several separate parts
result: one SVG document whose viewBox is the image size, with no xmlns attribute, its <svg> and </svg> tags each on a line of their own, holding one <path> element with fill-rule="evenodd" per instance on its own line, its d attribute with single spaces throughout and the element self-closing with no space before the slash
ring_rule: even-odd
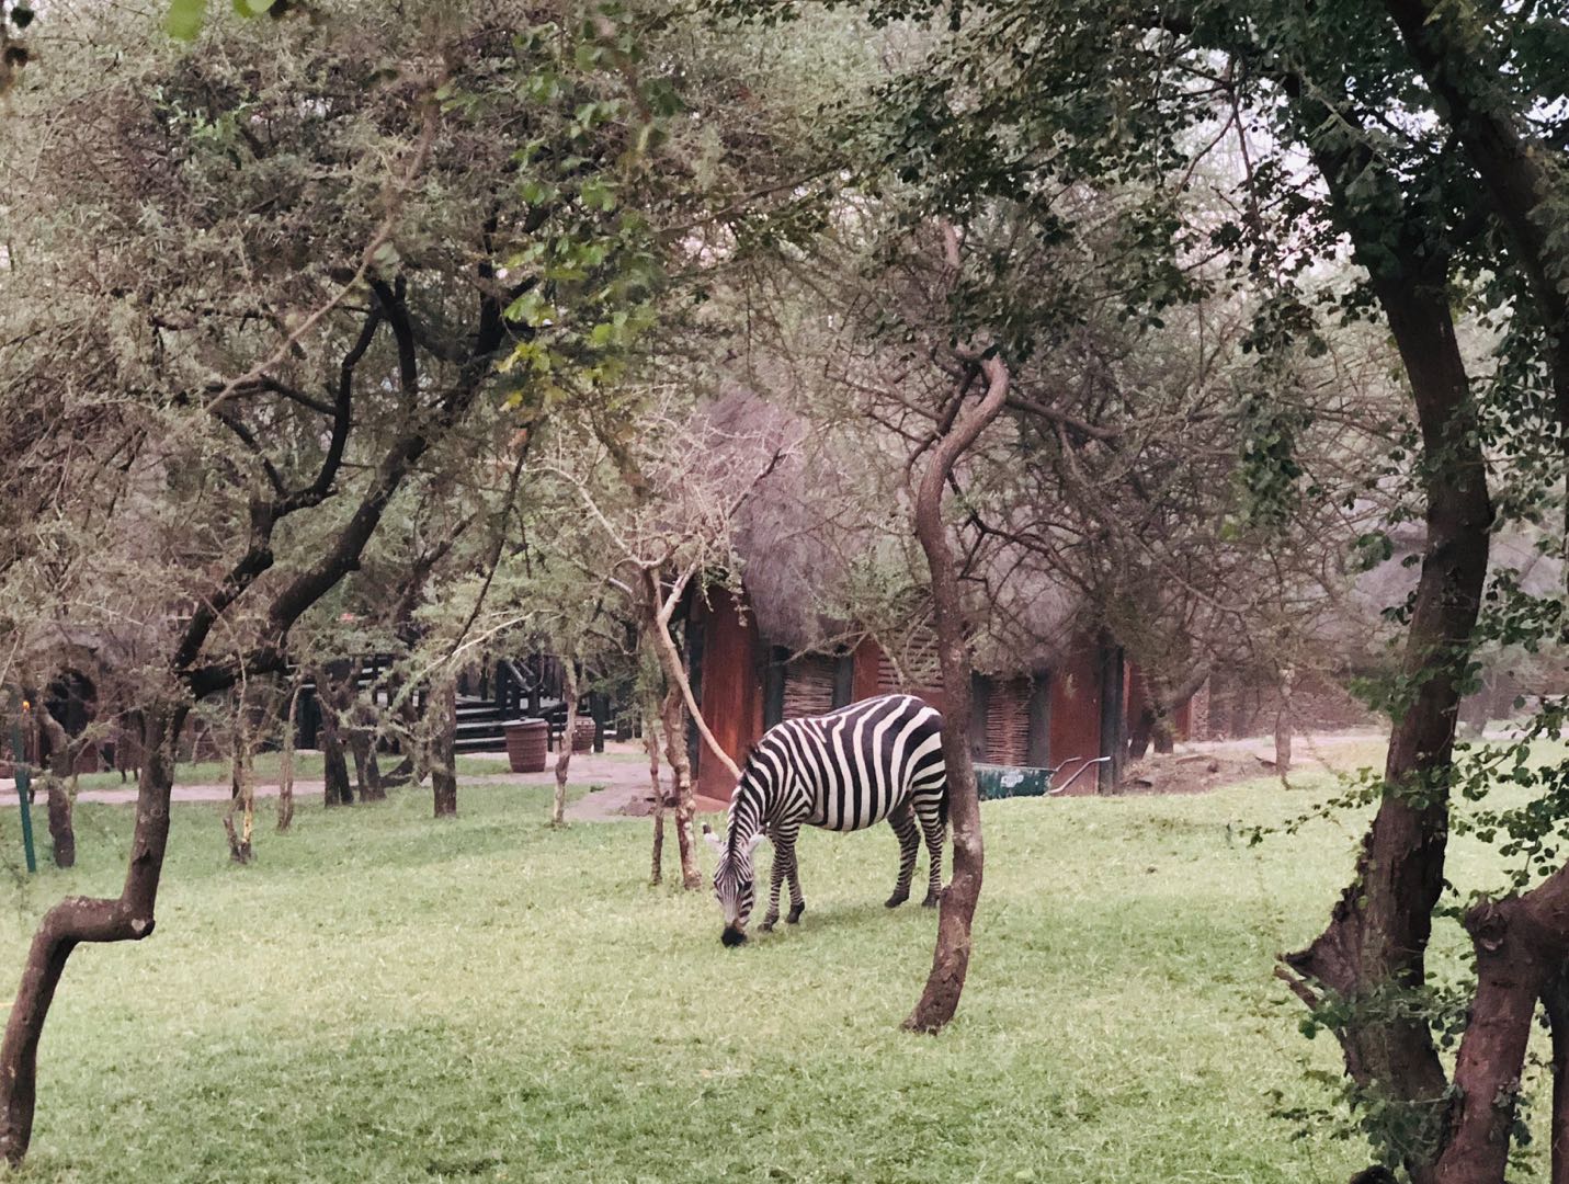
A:
<svg viewBox="0 0 1569 1184">
<path fill-rule="evenodd" d="M 783 423 L 761 400 L 731 394 L 709 409 L 734 438 Z M 866 441 L 868 453 L 876 441 Z M 780 720 L 890 692 L 941 709 L 935 638 L 897 494 L 868 455 L 806 447 L 759 483 L 734 539 L 742 591 L 693 596 L 686 615 L 693 688 L 715 739 L 737 764 Z M 976 651 L 977 759 L 1047 767 L 1112 757 L 1070 792 L 1112 784 L 1120 762 L 1127 673 L 1097 616 L 1037 557 L 990 554 L 967 580 Z M 726 800 L 719 761 L 697 754 L 698 792 Z M 1059 773 L 1067 781 L 1078 765 Z"/>
</svg>

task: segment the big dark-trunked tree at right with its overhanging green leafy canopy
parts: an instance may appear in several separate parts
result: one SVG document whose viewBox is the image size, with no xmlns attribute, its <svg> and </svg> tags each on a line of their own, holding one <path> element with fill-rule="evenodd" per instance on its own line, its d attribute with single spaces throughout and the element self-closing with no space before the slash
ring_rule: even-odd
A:
<svg viewBox="0 0 1569 1184">
<path fill-rule="evenodd" d="M 769 17 L 795 11 L 731 8 Z M 1542 97 L 1561 82 L 1563 69 L 1547 66 L 1555 58 L 1547 47 L 1561 41 L 1538 27 L 1530 6 L 1451 14 L 1392 3 L 1396 25 L 1351 3 L 984 3 L 952 6 L 946 35 L 924 24 L 937 13 L 930 5 L 869 11 L 879 22 L 919 27 L 918 64 L 882 85 L 879 114 L 865 124 L 872 135 L 844 136 L 871 174 L 886 179 L 879 196 L 913 188 L 923 209 L 960 221 L 1017 204 L 1051 226 L 1058 194 L 1127 194 L 1097 252 L 1125 278 L 1123 315 L 1158 323 L 1205 290 L 1233 285 L 1255 293 L 1244 348 L 1260 359 L 1321 351 L 1321 325 L 1334 317 L 1379 317 L 1393 336 L 1415 423 L 1362 477 L 1363 488 L 1409 480 L 1415 497 L 1396 513 L 1412 513 L 1415 502 L 1425 522 L 1422 579 L 1404 610 L 1404 670 L 1384 699 L 1395 731 L 1357 880 L 1324 936 L 1290 961 L 1305 975 L 1296 986 L 1341 1040 L 1352 1099 L 1379 1115 L 1370 1123 L 1379 1156 L 1418 1181 L 1502 1178 L 1508 1140 L 1497 1137 L 1498 1124 L 1513 1107 L 1491 1099 L 1508 1096 L 1492 1087 L 1517 1074 L 1517 1049 L 1483 1054 L 1487 1068 L 1478 1073 L 1465 1048 L 1473 1038 L 1486 1043 L 1489 1021 L 1478 1016 L 1462 1038 L 1461 1088 L 1451 1091 L 1422 991 L 1443 883 L 1453 723 L 1494 519 L 1480 438 L 1486 433 L 1516 470 L 1561 472 L 1561 459 L 1533 450 L 1527 431 L 1552 389 L 1547 326 L 1561 318 L 1553 296 L 1542 303 L 1539 285 L 1530 287 L 1531 267 L 1513 257 L 1533 243 L 1541 254 L 1550 237 L 1541 220 L 1533 231 L 1514 215 L 1556 209 L 1556 171 L 1517 185 L 1513 213 L 1497 193 L 1522 177 L 1520 162 L 1500 157 L 1500 144 L 1513 138 L 1523 149 L 1561 135 L 1563 113 L 1549 113 Z M 1473 61 L 1462 61 L 1467 53 Z M 1522 132 L 1527 125 L 1534 135 Z M 1447 151 L 1451 132 L 1467 141 L 1473 165 L 1487 149 L 1498 168 L 1483 179 L 1484 169 Z M 1230 180 L 1218 187 L 1229 210 L 1196 221 L 1185 196 L 1222 143 L 1233 146 L 1222 173 Z M 1089 243 L 1095 231 L 1059 215 L 1050 242 Z M 1362 279 L 1338 290 L 1323 284 L 1320 260 L 1348 252 Z M 1012 257 L 998 254 L 1004 267 Z M 1221 267 L 1197 267 L 1210 260 Z M 1454 323 L 1456 292 L 1517 345 L 1480 389 Z M 1040 312 L 1026 306 L 1012 321 L 995 320 L 1017 325 Z M 1261 390 L 1266 411 L 1274 397 Z M 1288 433 L 1272 430 L 1261 441 L 1268 447 L 1255 453 L 1254 472 L 1268 478 L 1265 488 L 1290 488 Z M 1536 499 L 1531 513 L 1541 507 Z M 1473 927 L 1498 916 L 1478 913 Z M 1487 999 L 1486 990 L 1476 996 Z"/>
</svg>

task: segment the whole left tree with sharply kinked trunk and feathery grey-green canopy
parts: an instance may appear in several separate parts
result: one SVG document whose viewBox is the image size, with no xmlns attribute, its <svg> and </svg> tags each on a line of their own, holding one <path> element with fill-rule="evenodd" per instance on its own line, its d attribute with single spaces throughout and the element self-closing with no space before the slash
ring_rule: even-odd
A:
<svg viewBox="0 0 1569 1184">
<path fill-rule="evenodd" d="M 100 569 L 137 579 L 94 591 L 105 616 L 143 597 L 158 654 L 138 703 L 146 767 L 124 888 L 44 916 L 0 1044 L 13 1164 L 72 950 L 154 928 L 191 704 L 279 671 L 290 629 L 361 561 L 433 449 L 485 398 L 521 405 L 541 373 L 601 365 L 613 343 L 596 348 L 592 328 L 657 278 L 631 207 L 654 118 L 639 88 L 662 83 L 629 77 L 621 28 L 565 31 L 546 6 L 441 14 L 427 27 L 366 3 L 265 45 L 213 27 L 232 52 L 185 58 L 141 17 L 52 8 L 50 35 L 91 52 L 60 53 L 71 67 L 25 96 L 56 135 L 5 154 L 13 209 L 49 215 L 6 227 L 33 300 L 6 309 L 0 406 L 6 481 L 69 464 L 30 499 L 52 499 L 58 535 L 8 538 L 6 577 L 44 580 L 55 558 L 116 541 Z M 519 27 L 533 30 L 521 49 Z M 585 116 L 592 100 L 607 105 Z M 533 165 L 497 132 L 519 105 L 541 132 Z M 135 231 L 149 218 L 158 234 Z M 499 256 L 530 251 L 499 274 Z M 573 278 L 549 262 L 562 251 Z M 541 331 L 530 293 L 581 337 Z M 538 358 L 541 342 L 546 370 L 496 376 L 510 350 Z"/>
</svg>

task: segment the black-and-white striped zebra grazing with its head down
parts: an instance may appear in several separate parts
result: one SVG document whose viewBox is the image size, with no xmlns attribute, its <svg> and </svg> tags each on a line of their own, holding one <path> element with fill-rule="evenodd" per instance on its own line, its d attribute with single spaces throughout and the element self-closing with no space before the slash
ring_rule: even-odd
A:
<svg viewBox="0 0 1569 1184">
<path fill-rule="evenodd" d="M 943 891 L 943 833 L 948 826 L 948 778 L 943 765 L 943 717 L 912 695 L 883 695 L 827 715 L 786 720 L 767 731 L 747 757 L 730 800 L 730 834 L 703 826 L 719 850 L 714 895 L 725 911 L 726 946 L 747 939 L 752 916 L 752 853 L 766 834 L 774 844 L 769 911 L 763 928 L 780 917 L 780 884 L 789 878 L 789 914 L 800 921 L 806 902 L 795 866 L 802 823 L 830 831 L 858 831 L 883 819 L 899 836 L 899 880 L 888 908 L 910 899 L 915 855 L 926 836 L 930 856 L 927 908 Z"/>
</svg>

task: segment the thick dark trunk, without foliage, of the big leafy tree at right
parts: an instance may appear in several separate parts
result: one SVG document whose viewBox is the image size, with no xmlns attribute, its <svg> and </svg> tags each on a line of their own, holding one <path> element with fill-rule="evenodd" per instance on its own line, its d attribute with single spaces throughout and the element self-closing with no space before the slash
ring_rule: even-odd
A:
<svg viewBox="0 0 1569 1184">
<path fill-rule="evenodd" d="M 1411 376 L 1425 452 L 1428 538 L 1403 663 L 1412 693 L 1390 735 L 1384 795 L 1352 883 L 1323 935 L 1287 964 L 1349 1002 L 1337 1032 L 1346 1073 L 1412 1115 L 1429 1115 L 1420 1146 L 1436 1149 L 1448 1109 L 1443 1066 L 1426 1021 L 1387 999 L 1426 982 L 1432 910 L 1443 889 L 1459 685 L 1492 508 L 1443 270 L 1404 262 L 1398 279 L 1374 278 L 1374 290 Z M 1385 1002 L 1374 1005 L 1379 999 Z M 1417 1184 L 1437 1179 L 1431 1149 L 1407 1160 Z"/>
</svg>

